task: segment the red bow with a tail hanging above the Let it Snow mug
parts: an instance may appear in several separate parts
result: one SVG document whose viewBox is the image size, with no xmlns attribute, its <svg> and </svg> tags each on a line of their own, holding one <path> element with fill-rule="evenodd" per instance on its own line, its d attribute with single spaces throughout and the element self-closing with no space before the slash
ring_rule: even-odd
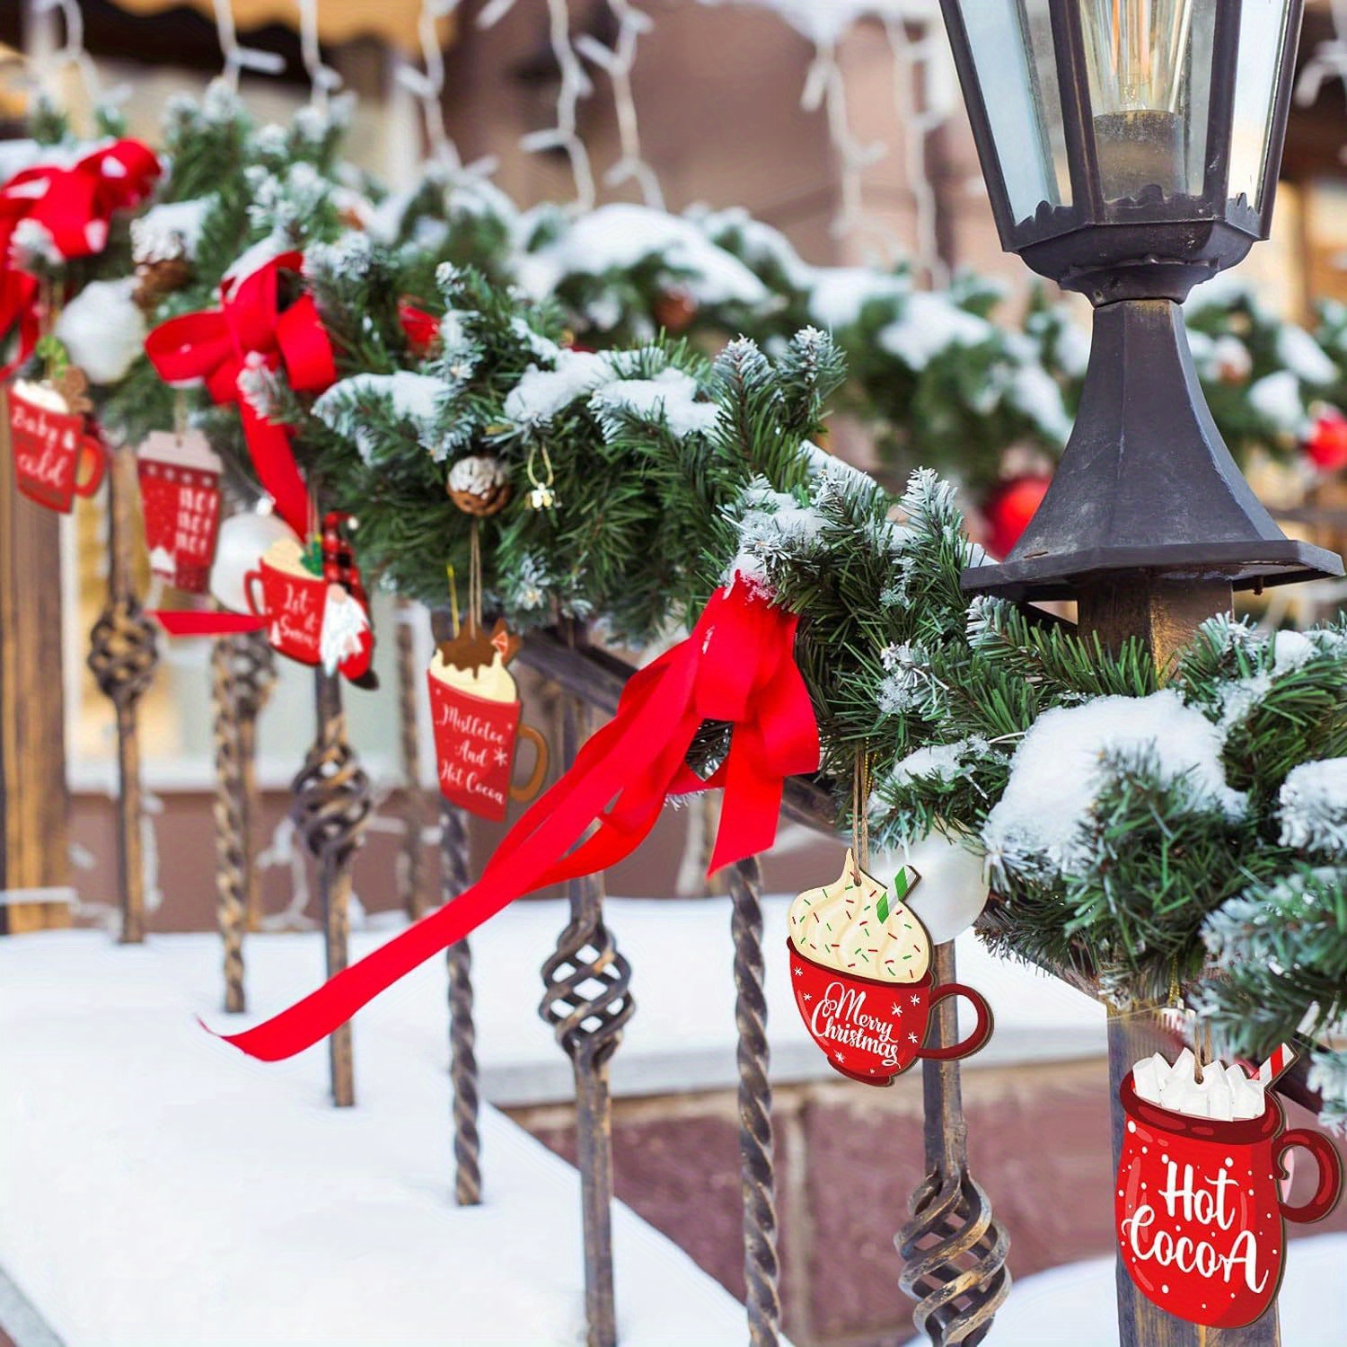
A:
<svg viewBox="0 0 1347 1347">
<path fill-rule="evenodd" d="M 206 381 L 217 403 L 237 403 L 244 436 L 257 478 L 276 502 L 276 512 L 304 537 L 308 532 L 308 492 L 290 432 L 257 414 L 238 389 L 249 366 L 282 365 L 292 388 L 321 392 L 337 379 L 331 342 L 310 294 L 280 308 L 280 273 L 300 271 L 303 255 L 282 253 L 247 276 L 226 276 L 220 308 L 183 314 L 160 323 L 145 338 L 145 354 L 170 384 Z"/>
</svg>

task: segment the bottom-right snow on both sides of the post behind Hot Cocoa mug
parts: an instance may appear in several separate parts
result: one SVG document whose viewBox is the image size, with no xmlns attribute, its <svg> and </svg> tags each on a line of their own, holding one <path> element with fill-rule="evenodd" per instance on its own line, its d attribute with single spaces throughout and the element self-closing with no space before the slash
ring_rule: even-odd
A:
<svg viewBox="0 0 1347 1347">
<path fill-rule="evenodd" d="M 1286 1347 L 1342 1347 L 1347 1323 L 1347 1235 L 1319 1235 L 1288 1245 L 1281 1284 L 1281 1340 Z M 1114 1262 L 1053 1268 L 1017 1281 L 998 1311 L 995 1347 L 1117 1347 Z M 1212 1335 L 1215 1336 L 1215 1335 Z M 908 1347 L 927 1347 L 915 1338 Z"/>
</svg>

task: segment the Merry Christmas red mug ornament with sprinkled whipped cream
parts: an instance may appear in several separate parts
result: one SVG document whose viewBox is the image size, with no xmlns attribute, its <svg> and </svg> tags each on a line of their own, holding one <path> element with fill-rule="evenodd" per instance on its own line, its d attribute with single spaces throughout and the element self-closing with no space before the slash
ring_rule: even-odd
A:
<svg viewBox="0 0 1347 1347">
<path fill-rule="evenodd" d="M 842 874 L 791 904 L 791 990 L 828 1065 L 869 1086 L 890 1086 L 919 1057 L 977 1052 L 991 1036 L 991 1009 L 960 982 L 936 985 L 931 940 L 905 898 L 920 876 L 898 872 L 894 897 L 846 854 Z M 973 1032 L 944 1048 L 925 1047 L 931 1010 L 947 997 L 973 1004 Z"/>
</svg>

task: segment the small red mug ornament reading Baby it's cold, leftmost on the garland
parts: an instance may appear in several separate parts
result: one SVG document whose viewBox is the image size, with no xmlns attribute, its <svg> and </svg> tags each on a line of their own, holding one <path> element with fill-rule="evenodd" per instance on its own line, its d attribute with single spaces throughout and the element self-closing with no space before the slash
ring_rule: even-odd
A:
<svg viewBox="0 0 1347 1347">
<path fill-rule="evenodd" d="M 9 389 L 9 443 L 19 490 L 47 509 L 69 515 L 102 482 L 102 442 L 54 388 L 20 380 Z"/>
</svg>

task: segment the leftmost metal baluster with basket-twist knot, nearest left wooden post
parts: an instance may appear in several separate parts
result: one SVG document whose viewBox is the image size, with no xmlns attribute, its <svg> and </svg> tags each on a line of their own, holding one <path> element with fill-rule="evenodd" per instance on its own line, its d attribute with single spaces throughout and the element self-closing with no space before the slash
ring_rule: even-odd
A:
<svg viewBox="0 0 1347 1347">
<path fill-rule="evenodd" d="M 154 679 L 159 643 L 132 587 L 132 516 L 136 455 L 127 445 L 108 447 L 108 605 L 89 633 L 89 669 L 117 714 L 117 890 L 121 943 L 145 938 L 145 863 L 140 832 L 140 726 L 136 703 Z"/>
</svg>

